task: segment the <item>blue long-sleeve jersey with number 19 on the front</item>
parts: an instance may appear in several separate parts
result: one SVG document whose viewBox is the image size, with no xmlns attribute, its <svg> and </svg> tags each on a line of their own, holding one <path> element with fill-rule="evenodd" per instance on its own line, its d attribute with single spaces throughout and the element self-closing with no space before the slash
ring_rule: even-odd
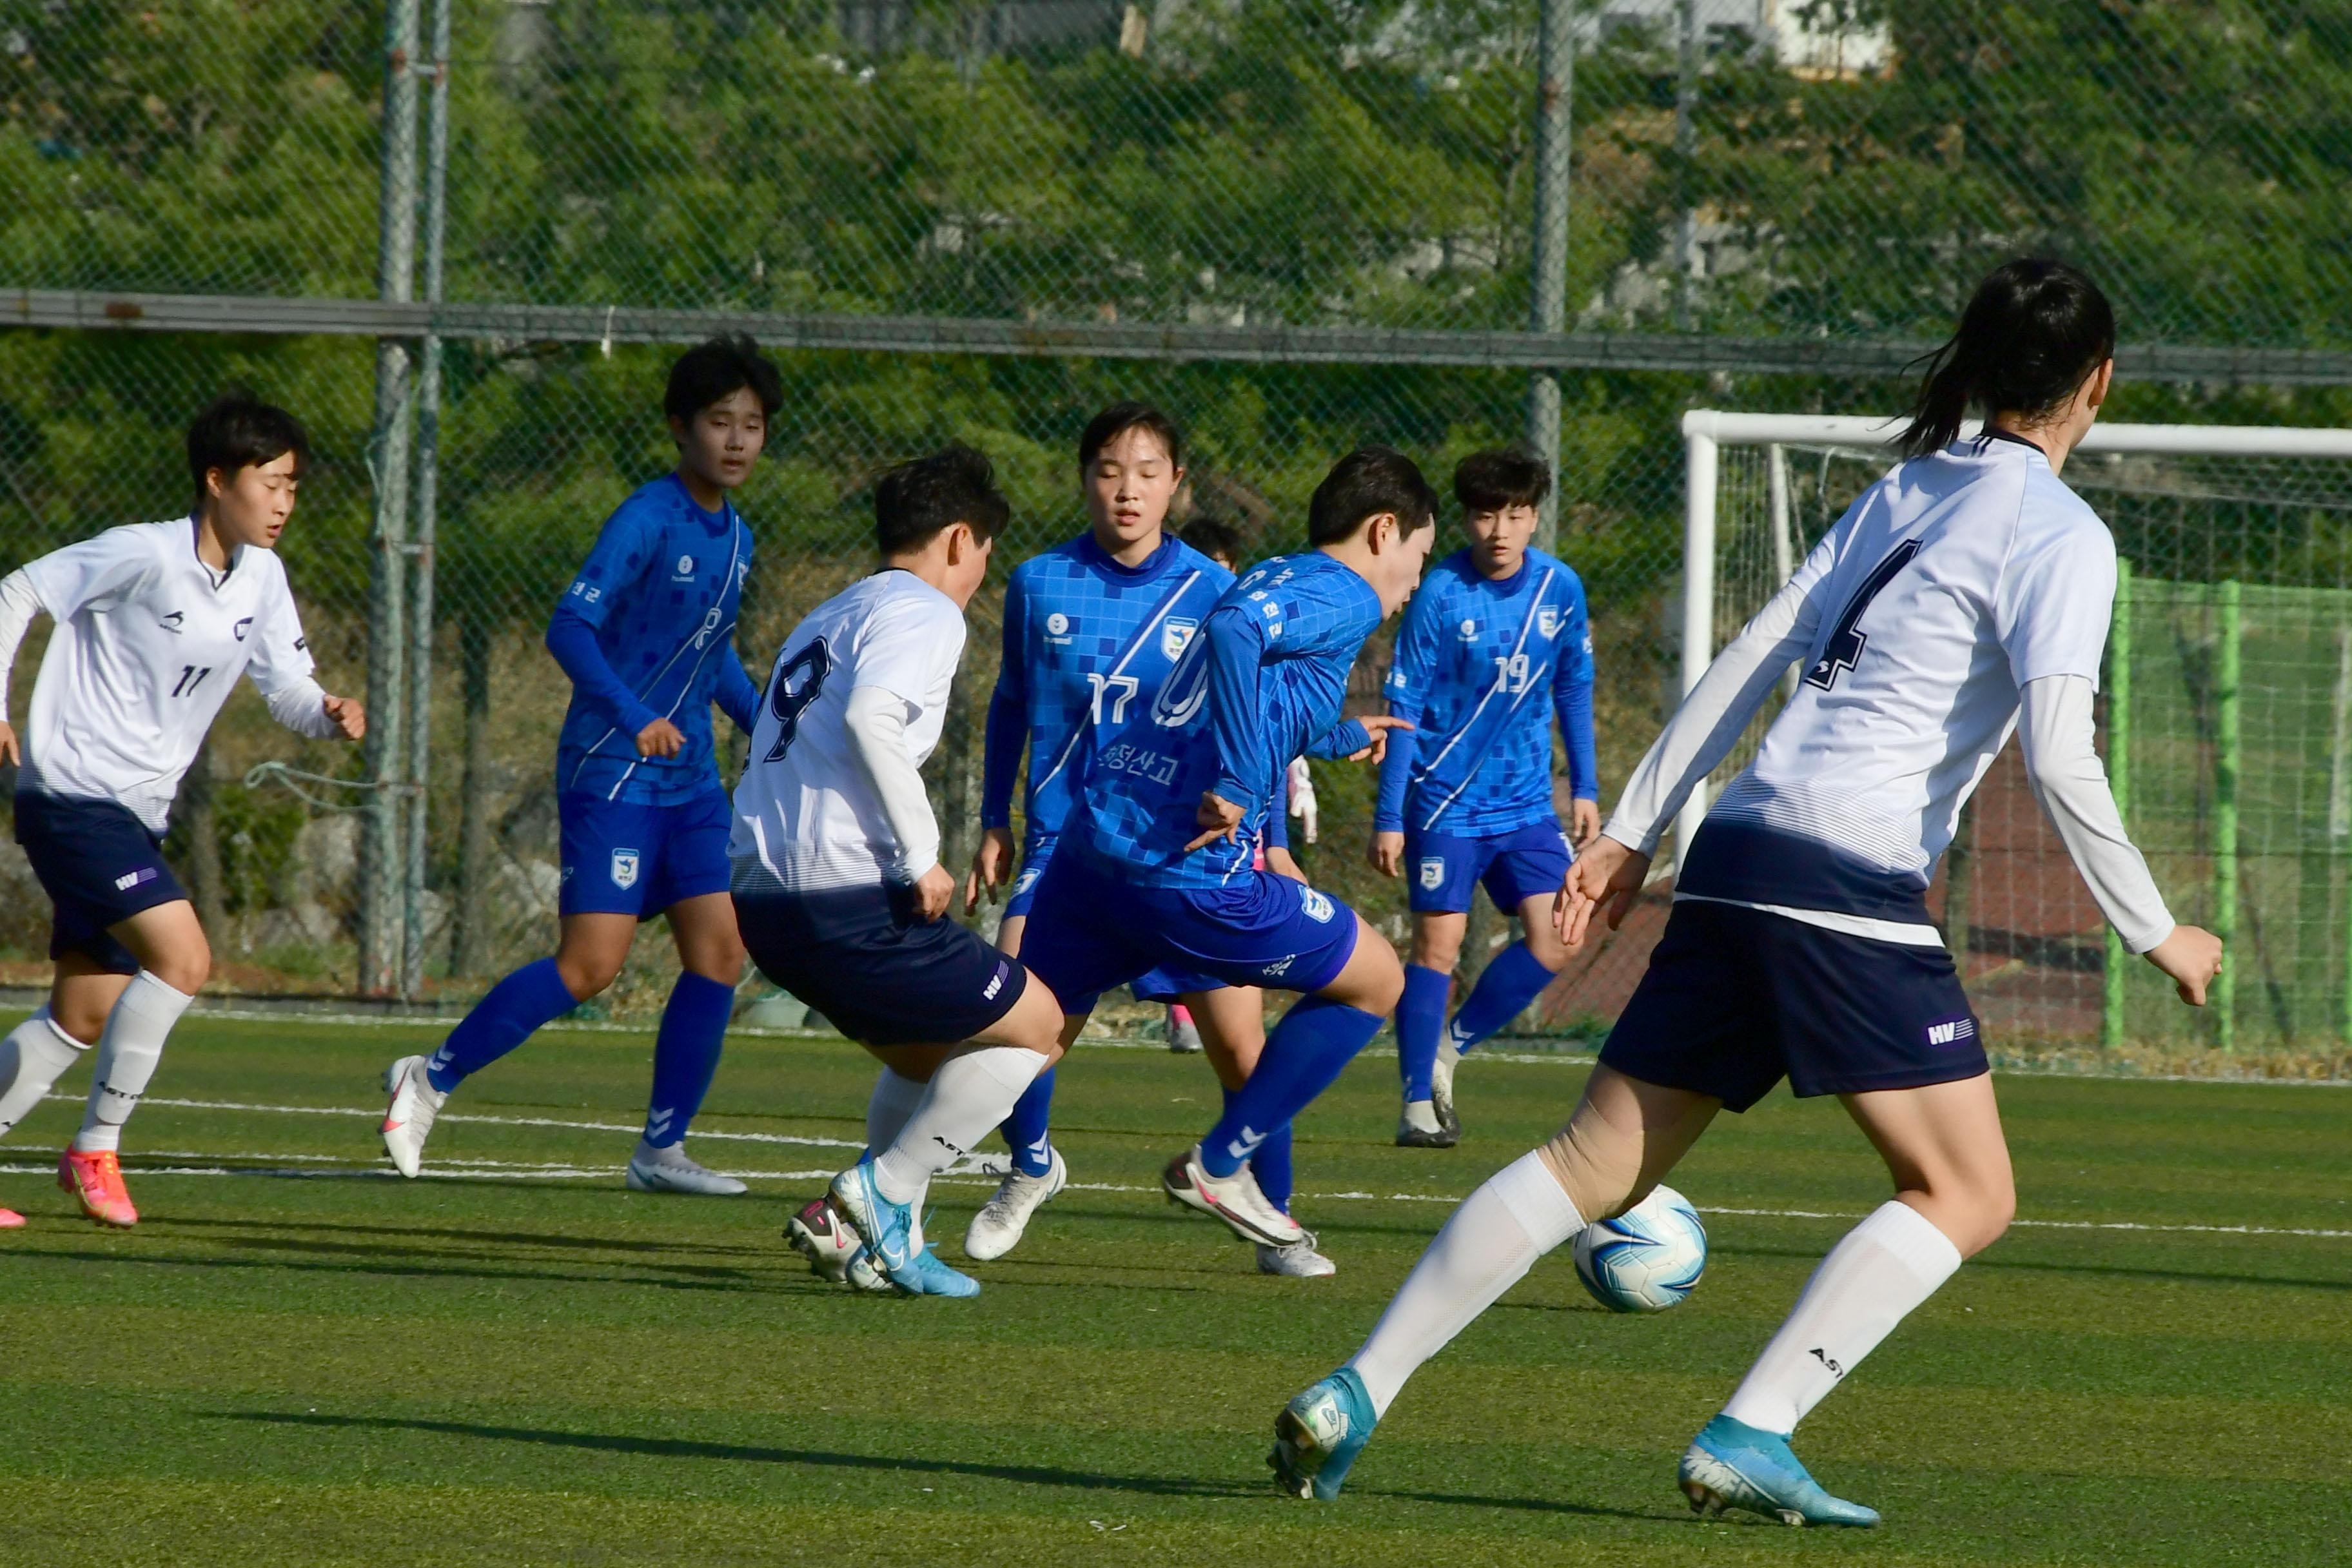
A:
<svg viewBox="0 0 2352 1568">
<path fill-rule="evenodd" d="M 1388 733 L 1381 832 L 1484 837 L 1559 820 L 1555 719 L 1569 743 L 1569 790 L 1597 799 L 1585 585 L 1543 550 L 1503 581 L 1484 578 L 1468 550 L 1449 555 L 1404 611 L 1388 712 L 1414 729 Z"/>
</svg>

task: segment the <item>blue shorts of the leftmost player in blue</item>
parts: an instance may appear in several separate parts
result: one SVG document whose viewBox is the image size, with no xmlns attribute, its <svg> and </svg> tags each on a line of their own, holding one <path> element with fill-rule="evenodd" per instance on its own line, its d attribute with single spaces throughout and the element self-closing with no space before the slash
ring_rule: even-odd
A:
<svg viewBox="0 0 2352 1568">
<path fill-rule="evenodd" d="M 715 783 L 675 806 L 640 806 L 595 795 L 557 795 L 564 882 L 562 914 L 652 919 L 673 903 L 727 891 L 727 835 L 734 804 Z"/>
</svg>

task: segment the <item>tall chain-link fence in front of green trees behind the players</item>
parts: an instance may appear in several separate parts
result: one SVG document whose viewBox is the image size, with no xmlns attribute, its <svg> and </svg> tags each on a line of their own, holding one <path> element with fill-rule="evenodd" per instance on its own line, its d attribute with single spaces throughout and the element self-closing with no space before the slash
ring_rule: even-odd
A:
<svg viewBox="0 0 2352 1568">
<path fill-rule="evenodd" d="M 407 637 L 430 656 L 426 853 L 390 938 L 428 997 L 553 936 L 567 689 L 539 635 L 602 517 L 670 461 L 675 343 L 720 324 L 786 371 L 741 496 L 753 670 L 866 569 L 870 477 L 943 440 L 997 461 L 1018 559 L 1082 527 L 1084 418 L 1162 402 L 1195 447 L 1181 512 L 1275 552 L 1338 451 L 1385 440 L 1444 484 L 1526 437 L 1550 383 L 1604 795 L 1675 689 L 1682 409 L 1886 411 L 1978 273 L 2053 249 L 2117 299 L 2138 374 L 2117 416 L 2345 423 L 2338 7 L 449 0 L 447 21 L 442 52 L 430 0 L 0 0 L 0 569 L 176 512 L 188 414 L 249 383 L 315 433 L 285 555 L 322 675 L 365 689 L 372 618 L 379 656 L 402 642 L 383 581 L 416 562 L 416 484 L 388 470 L 416 461 L 419 388 L 379 407 L 379 334 L 437 336 L 430 625 Z M 1564 202 L 1545 134 L 1573 148 Z M 412 216 L 437 289 L 386 247 Z M 2343 585 L 2303 559 L 2265 581 Z M 993 595 L 969 646 L 931 769 L 957 856 Z M 1317 769 L 1308 870 L 1402 931 L 1402 891 L 1362 863 L 1371 780 Z M 397 799 L 365 785 L 407 776 L 235 698 L 172 844 L 233 985 L 397 985 L 358 945 L 360 865 L 390 853 L 360 823 Z M 31 973 L 45 905 L 7 875 L 0 945 Z M 1642 952 L 1578 966 L 1548 1023 L 1597 1030 Z"/>
</svg>

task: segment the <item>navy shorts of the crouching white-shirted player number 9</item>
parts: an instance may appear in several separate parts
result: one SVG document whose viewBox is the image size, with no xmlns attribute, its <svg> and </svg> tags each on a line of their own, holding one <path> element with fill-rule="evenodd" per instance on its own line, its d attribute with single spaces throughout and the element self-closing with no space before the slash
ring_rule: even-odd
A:
<svg viewBox="0 0 2352 1568">
<path fill-rule="evenodd" d="M 760 973 L 868 1046 L 971 1039 L 1028 990 L 1021 959 L 953 919 L 920 919 L 898 891 L 736 893 L 734 903 Z"/>
</svg>

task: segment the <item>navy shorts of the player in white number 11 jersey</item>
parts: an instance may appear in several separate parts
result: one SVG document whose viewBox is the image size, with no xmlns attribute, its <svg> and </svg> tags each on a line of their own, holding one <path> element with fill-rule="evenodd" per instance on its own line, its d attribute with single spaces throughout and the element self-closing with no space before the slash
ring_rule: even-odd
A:
<svg viewBox="0 0 2352 1568">
<path fill-rule="evenodd" d="M 52 959 L 78 952 L 108 973 L 134 976 L 139 959 L 106 929 L 188 896 L 162 863 L 162 837 L 111 799 L 19 790 L 16 842 L 54 910 Z"/>
</svg>

